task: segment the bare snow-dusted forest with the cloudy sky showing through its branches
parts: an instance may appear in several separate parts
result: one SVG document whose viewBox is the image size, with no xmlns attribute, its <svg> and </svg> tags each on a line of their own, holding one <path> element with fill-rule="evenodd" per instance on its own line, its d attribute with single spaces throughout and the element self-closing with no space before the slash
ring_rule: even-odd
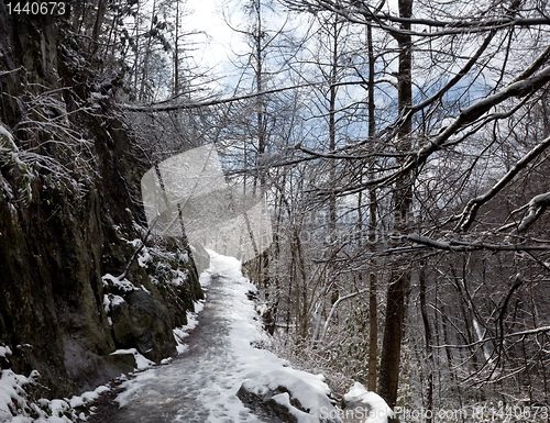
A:
<svg viewBox="0 0 550 423">
<path fill-rule="evenodd" d="M 0 115 L 21 202 L 38 174 L 85 197 L 75 169 L 95 178 L 96 147 L 79 113 L 120 122 L 144 168 L 213 144 L 271 215 L 272 245 L 243 264 L 265 348 L 392 408 L 550 421 L 535 412 L 550 405 L 548 1 L 228 1 L 227 58 L 208 57 L 194 13 L 75 0 L 34 18 L 63 64 L 22 76 L 23 112 Z"/>
</svg>

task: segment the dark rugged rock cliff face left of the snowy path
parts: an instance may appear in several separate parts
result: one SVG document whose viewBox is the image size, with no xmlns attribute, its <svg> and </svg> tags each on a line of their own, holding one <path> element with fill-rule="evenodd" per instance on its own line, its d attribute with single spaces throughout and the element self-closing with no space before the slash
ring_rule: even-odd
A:
<svg viewBox="0 0 550 423">
<path fill-rule="evenodd" d="M 37 370 L 46 397 L 130 370 L 116 349 L 175 355 L 172 330 L 202 297 L 176 240 L 147 240 L 131 261 L 148 164 L 111 113 L 113 82 L 86 73 L 78 48 L 63 21 L 0 3 L 0 345 L 12 352 L 0 364 Z"/>
</svg>

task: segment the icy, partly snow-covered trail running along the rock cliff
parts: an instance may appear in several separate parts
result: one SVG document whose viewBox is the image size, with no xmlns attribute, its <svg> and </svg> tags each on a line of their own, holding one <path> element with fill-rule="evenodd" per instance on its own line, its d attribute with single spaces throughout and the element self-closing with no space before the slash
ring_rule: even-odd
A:
<svg viewBox="0 0 550 423">
<path fill-rule="evenodd" d="M 243 382 L 263 392 L 286 380 L 311 410 L 294 409 L 293 414 L 300 423 L 319 422 L 320 409 L 330 407 L 322 376 L 292 369 L 274 354 L 253 346 L 265 336 L 246 297 L 255 288 L 242 276 L 237 259 L 210 253 L 211 266 L 201 276 L 207 302 L 199 326 L 186 338 L 188 346 L 172 364 L 125 382 L 112 421 L 262 422 L 242 404 L 237 391 Z M 279 400 L 285 402 L 285 398 Z"/>
</svg>

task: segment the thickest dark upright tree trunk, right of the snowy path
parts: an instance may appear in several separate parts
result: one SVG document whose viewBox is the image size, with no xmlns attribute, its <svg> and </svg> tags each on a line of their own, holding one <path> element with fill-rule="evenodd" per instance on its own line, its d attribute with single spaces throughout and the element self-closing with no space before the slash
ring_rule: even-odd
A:
<svg viewBox="0 0 550 423">
<path fill-rule="evenodd" d="M 399 0 L 399 16 L 411 18 L 413 0 Z M 403 23 L 402 29 L 410 30 L 409 23 Z M 399 73 L 398 73 L 398 102 L 399 113 L 405 115 L 413 102 L 411 89 L 411 37 L 406 33 L 395 35 L 399 47 Z M 397 133 L 397 148 L 408 152 L 411 147 L 410 131 L 411 118 L 403 122 Z M 396 180 L 394 191 L 394 229 L 403 233 L 407 229 L 408 214 L 413 202 L 413 180 L 410 174 L 403 174 Z M 410 285 L 410 270 L 406 263 L 400 263 L 393 269 L 393 275 L 387 289 L 386 319 L 384 327 L 384 339 L 382 344 L 381 371 L 378 380 L 378 393 L 393 409 L 397 402 L 397 388 L 399 382 L 399 361 L 403 339 L 403 326 L 405 323 L 405 299 Z"/>
</svg>

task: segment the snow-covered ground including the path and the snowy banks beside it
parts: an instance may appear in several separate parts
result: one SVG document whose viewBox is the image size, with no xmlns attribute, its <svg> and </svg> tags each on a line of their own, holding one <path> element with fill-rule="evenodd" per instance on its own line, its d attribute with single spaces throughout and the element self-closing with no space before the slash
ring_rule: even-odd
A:
<svg viewBox="0 0 550 423">
<path fill-rule="evenodd" d="M 273 353 L 261 349 L 266 339 L 254 303 L 246 293 L 255 287 L 241 274 L 234 258 L 211 255 L 211 266 L 200 277 L 207 301 L 196 304 L 188 314 L 188 325 L 175 330 L 179 356 L 165 360 L 165 366 L 152 363 L 136 350 L 113 354 L 134 354 L 140 371 L 121 386 L 120 405 L 110 421 L 135 422 L 273 422 L 248 409 L 237 393 L 241 387 L 258 397 L 271 392 L 272 401 L 286 407 L 299 423 L 339 422 L 342 410 L 336 409 L 322 375 L 293 369 Z M 197 331 L 189 332 L 197 325 Z M 0 356 L 11 352 L 0 346 Z M 64 400 L 26 400 L 23 387 L 32 383 L 33 375 L 23 377 L 2 370 L 0 379 L 0 423 L 69 423 L 85 420 L 75 408 L 94 401 L 107 387 Z M 280 387 L 284 387 L 280 389 Z M 385 402 L 356 383 L 346 394 L 348 401 L 369 404 L 373 411 L 366 423 L 385 423 L 391 413 Z M 292 401 L 293 400 L 293 401 Z M 298 400 L 305 412 L 293 404 Z M 19 404 L 19 411 L 14 404 Z M 375 412 L 375 413 L 374 413 Z M 19 415 L 13 416 L 13 413 Z M 32 419 L 31 415 L 38 415 Z M 343 420 L 346 421 L 345 419 Z M 356 420 L 354 420 L 356 421 Z"/>
</svg>

